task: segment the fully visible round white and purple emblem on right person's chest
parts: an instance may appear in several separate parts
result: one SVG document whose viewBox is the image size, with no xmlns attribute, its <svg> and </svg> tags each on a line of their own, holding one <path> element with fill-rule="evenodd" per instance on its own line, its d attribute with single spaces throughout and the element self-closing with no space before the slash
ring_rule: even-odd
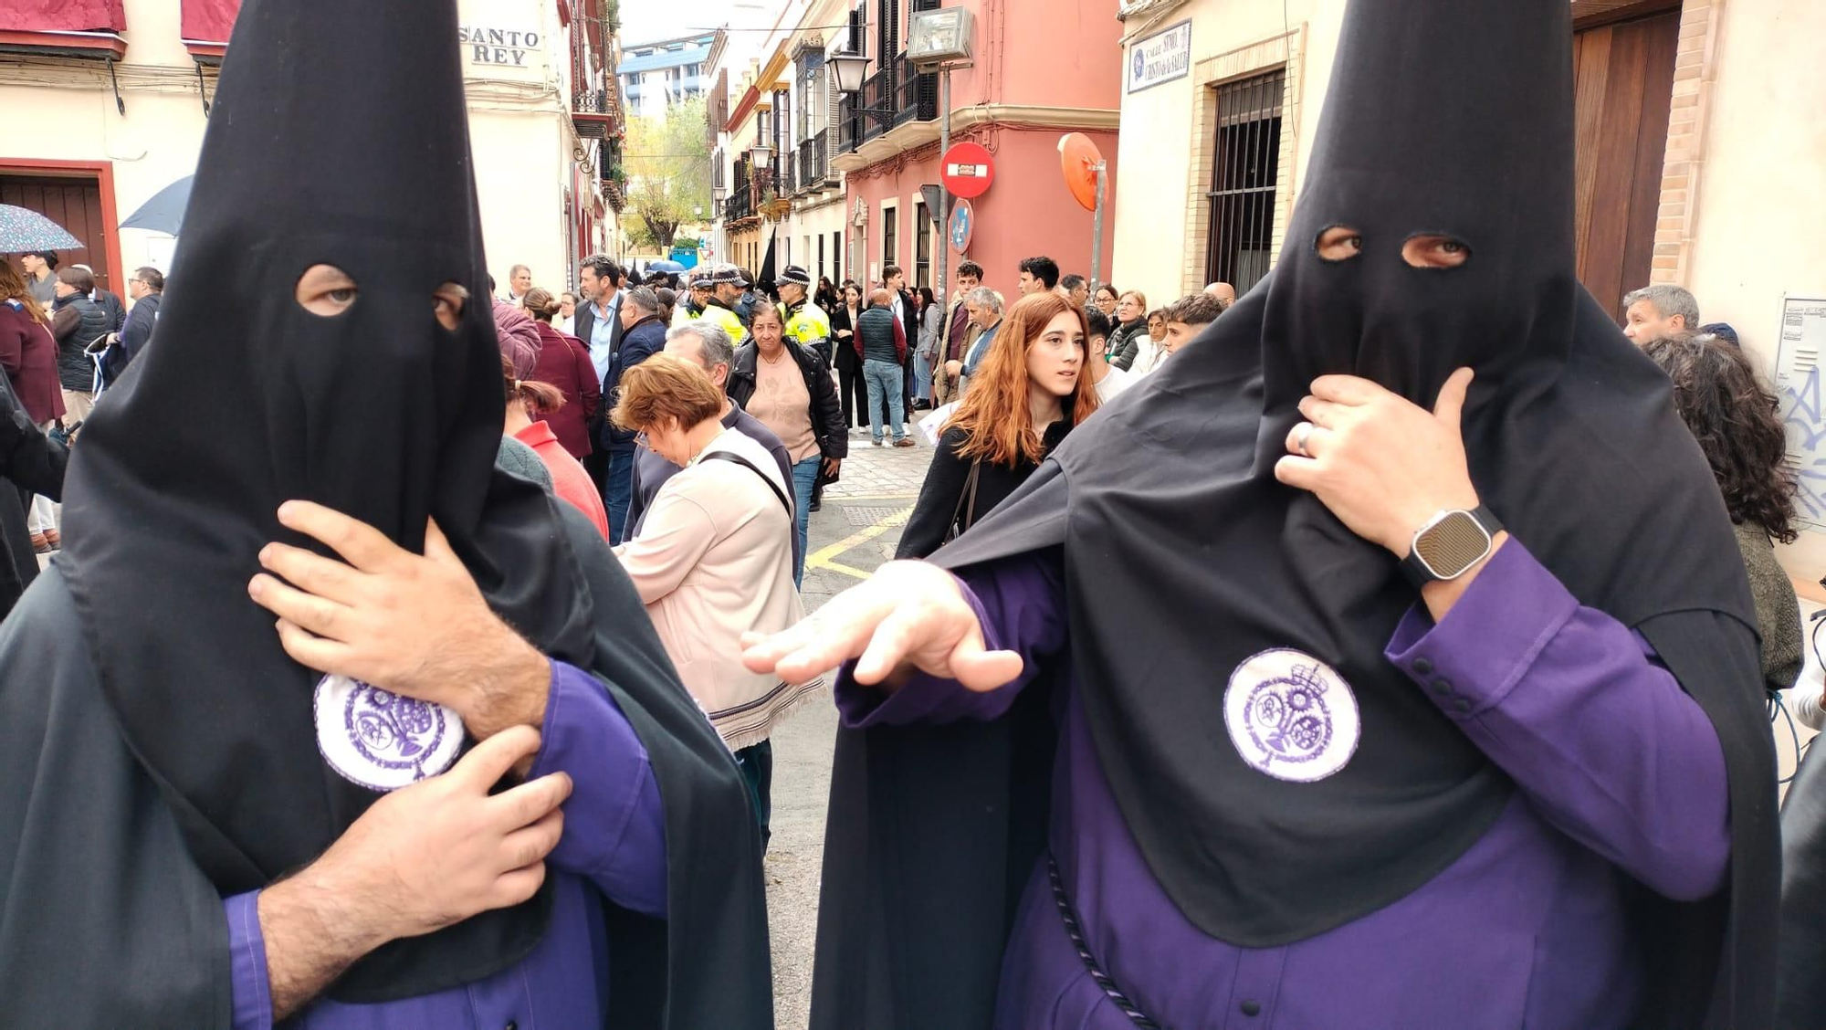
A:
<svg viewBox="0 0 1826 1030">
<path fill-rule="evenodd" d="M 1244 762 L 1295 783 L 1344 769 L 1362 734 L 1349 683 L 1291 648 L 1264 650 L 1231 672 L 1223 725 Z"/>
</svg>

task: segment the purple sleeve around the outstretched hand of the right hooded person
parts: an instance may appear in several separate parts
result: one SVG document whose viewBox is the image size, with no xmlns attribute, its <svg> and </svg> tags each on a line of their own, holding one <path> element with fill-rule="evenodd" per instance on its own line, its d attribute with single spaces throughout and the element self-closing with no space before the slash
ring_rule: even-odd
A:
<svg viewBox="0 0 1826 1030">
<path fill-rule="evenodd" d="M 1065 577 L 1057 559 L 1015 557 L 986 562 L 959 577 L 964 603 L 977 614 L 982 645 L 1012 650 L 1023 668 L 1012 683 L 975 692 L 955 679 L 915 674 L 898 690 L 886 694 L 856 683 L 855 663 L 836 678 L 836 710 L 845 729 L 908 723 L 951 723 L 957 720 L 993 720 L 1015 703 L 1023 687 L 1039 676 L 1041 659 L 1065 646 Z"/>
</svg>

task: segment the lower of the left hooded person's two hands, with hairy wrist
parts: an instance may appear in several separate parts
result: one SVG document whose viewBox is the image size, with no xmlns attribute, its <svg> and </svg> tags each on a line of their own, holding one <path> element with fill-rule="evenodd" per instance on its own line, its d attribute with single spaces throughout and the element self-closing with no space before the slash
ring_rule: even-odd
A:
<svg viewBox="0 0 1826 1030">
<path fill-rule="evenodd" d="M 564 833 L 570 776 L 489 789 L 537 751 L 533 729 L 495 734 L 449 772 L 374 802 L 316 862 L 259 893 L 276 1021 L 389 941 L 533 897 Z"/>
</svg>

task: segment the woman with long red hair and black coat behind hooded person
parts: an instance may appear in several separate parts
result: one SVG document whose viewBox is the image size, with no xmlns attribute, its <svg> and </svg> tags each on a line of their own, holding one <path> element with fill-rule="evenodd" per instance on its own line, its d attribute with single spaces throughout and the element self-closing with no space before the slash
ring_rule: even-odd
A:
<svg viewBox="0 0 1826 1030">
<path fill-rule="evenodd" d="M 939 438 L 897 559 L 928 557 L 970 530 L 1090 418 L 1097 391 L 1083 374 L 1086 336 L 1085 312 L 1052 292 L 1008 310 Z"/>
</svg>

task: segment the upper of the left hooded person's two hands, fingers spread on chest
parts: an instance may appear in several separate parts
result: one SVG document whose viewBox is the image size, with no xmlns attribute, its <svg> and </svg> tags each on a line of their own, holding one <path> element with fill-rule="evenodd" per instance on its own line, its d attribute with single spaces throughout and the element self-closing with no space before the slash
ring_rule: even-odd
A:
<svg viewBox="0 0 1826 1030">
<path fill-rule="evenodd" d="M 298 663 L 446 705 L 477 740 L 544 721 L 550 665 L 489 610 L 436 522 L 424 555 L 307 500 L 279 506 L 279 522 L 343 557 L 289 544 L 259 552 L 270 575 L 256 575 L 248 594 L 279 617 Z"/>
</svg>

